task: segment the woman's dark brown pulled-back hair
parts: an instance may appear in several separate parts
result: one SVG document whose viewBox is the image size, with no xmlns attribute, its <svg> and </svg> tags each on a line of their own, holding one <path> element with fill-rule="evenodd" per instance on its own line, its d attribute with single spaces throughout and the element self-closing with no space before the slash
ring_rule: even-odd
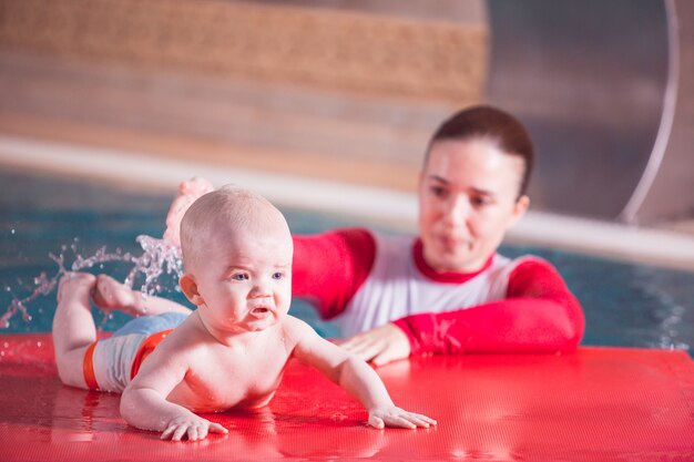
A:
<svg viewBox="0 0 694 462">
<path fill-rule="evenodd" d="M 446 120 L 431 136 L 425 166 L 429 161 L 429 152 L 437 141 L 469 138 L 488 138 L 509 155 L 517 155 L 525 164 L 518 197 L 525 194 L 530 173 L 534 162 L 534 147 L 525 127 L 511 114 L 492 106 L 472 106 L 463 109 Z"/>
</svg>

